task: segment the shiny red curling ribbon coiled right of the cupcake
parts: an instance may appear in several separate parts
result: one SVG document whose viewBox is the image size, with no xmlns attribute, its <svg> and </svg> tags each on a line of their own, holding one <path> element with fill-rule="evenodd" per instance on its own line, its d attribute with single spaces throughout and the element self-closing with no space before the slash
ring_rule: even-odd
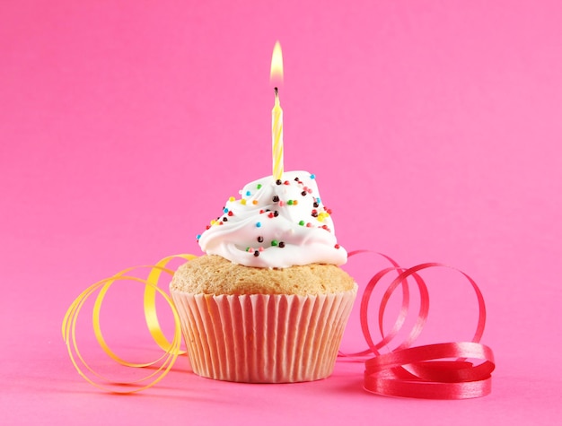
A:
<svg viewBox="0 0 562 426">
<path fill-rule="evenodd" d="M 367 250 L 353 251 L 348 256 L 355 256 L 360 253 L 367 253 Z M 350 357 L 375 355 L 365 361 L 365 390 L 384 396 L 425 399 L 466 399 L 488 395 L 491 391 L 491 373 L 495 369 L 495 363 L 492 350 L 479 343 L 486 323 L 486 307 L 478 285 L 469 275 L 448 265 L 426 263 L 406 269 L 400 267 L 389 256 L 377 254 L 390 261 L 392 267 L 382 269 L 379 273 L 374 274 L 364 289 L 359 315 L 361 329 L 369 349 L 352 354 L 340 353 L 340 356 Z M 459 272 L 469 281 L 476 292 L 479 303 L 479 319 L 471 342 L 436 343 L 410 347 L 421 333 L 429 312 L 429 293 L 426 283 L 418 272 L 433 267 L 446 267 Z M 374 287 L 380 283 L 383 276 L 391 272 L 398 274 L 398 276 L 391 282 L 382 296 L 378 312 L 378 326 L 382 340 L 374 343 L 367 317 L 369 301 Z M 419 291 L 420 306 L 416 323 L 404 342 L 400 343 L 393 351 L 382 354 L 379 350 L 387 346 L 398 335 L 408 315 L 408 278 L 413 279 Z M 392 293 L 399 286 L 402 288 L 400 312 L 391 327 L 391 331 L 385 335 L 383 332 L 384 312 Z M 482 362 L 479 365 L 474 365 L 472 362 L 466 361 L 467 359 Z"/>
</svg>

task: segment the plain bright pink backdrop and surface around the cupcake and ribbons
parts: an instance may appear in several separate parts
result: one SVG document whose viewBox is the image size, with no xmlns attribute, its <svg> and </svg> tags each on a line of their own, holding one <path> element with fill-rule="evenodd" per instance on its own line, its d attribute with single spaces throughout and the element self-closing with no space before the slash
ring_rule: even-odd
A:
<svg viewBox="0 0 562 426">
<path fill-rule="evenodd" d="M 1 2 L 0 422 L 559 422 L 560 22 L 557 0 Z M 182 357 L 129 397 L 75 372 L 59 327 L 80 291 L 198 254 L 224 200 L 270 174 L 276 39 L 285 170 L 317 175 L 346 248 L 443 262 L 479 283 L 490 396 L 373 396 L 362 365 L 341 361 L 321 382 L 252 386 L 198 378 Z M 369 262 L 349 267 L 383 265 Z M 474 300 L 452 303 L 465 286 L 430 289 L 451 305 L 427 342 L 473 324 Z M 120 324 L 115 309 L 107 318 Z M 137 329 L 121 341 L 133 352 Z M 361 342 L 352 321 L 344 346 Z"/>
</svg>

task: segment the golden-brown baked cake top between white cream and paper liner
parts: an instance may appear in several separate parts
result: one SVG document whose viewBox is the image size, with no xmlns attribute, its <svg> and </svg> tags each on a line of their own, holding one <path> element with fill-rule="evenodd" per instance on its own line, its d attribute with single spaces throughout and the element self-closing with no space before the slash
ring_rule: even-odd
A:
<svg viewBox="0 0 562 426">
<path fill-rule="evenodd" d="M 222 256 L 200 256 L 181 265 L 171 290 L 195 294 L 317 295 L 350 291 L 356 283 L 336 265 L 297 265 L 280 269 L 237 265 Z"/>
</svg>

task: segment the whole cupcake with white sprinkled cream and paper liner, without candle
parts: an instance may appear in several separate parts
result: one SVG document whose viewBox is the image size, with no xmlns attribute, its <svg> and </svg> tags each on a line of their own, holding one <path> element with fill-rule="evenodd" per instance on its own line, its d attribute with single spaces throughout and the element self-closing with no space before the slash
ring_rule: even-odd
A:
<svg viewBox="0 0 562 426">
<path fill-rule="evenodd" d="M 198 236 L 206 253 L 181 265 L 171 297 L 199 376 L 287 383 L 331 374 L 356 298 L 338 266 L 329 209 L 314 175 L 261 178 L 230 197 Z"/>
</svg>

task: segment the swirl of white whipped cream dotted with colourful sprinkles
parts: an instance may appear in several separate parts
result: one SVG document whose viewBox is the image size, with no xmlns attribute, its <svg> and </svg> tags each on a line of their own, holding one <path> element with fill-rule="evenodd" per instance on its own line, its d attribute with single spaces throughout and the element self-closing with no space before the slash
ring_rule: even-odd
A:
<svg viewBox="0 0 562 426">
<path fill-rule="evenodd" d="M 270 268 L 343 265 L 329 209 L 321 202 L 314 175 L 289 171 L 283 180 L 260 178 L 231 196 L 223 213 L 198 236 L 207 255 Z"/>
</svg>

